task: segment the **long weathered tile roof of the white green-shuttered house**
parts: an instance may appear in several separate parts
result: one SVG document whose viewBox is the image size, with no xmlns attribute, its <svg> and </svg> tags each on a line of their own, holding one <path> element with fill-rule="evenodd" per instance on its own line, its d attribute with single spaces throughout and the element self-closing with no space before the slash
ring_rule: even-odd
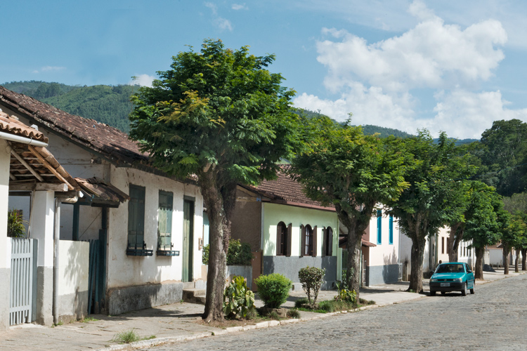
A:
<svg viewBox="0 0 527 351">
<path fill-rule="evenodd" d="M 138 144 L 117 128 L 93 119 L 69 114 L 30 96 L 0 86 L 0 105 L 19 112 L 37 125 L 43 125 L 72 142 L 88 147 L 115 164 L 148 163 Z"/>
</svg>

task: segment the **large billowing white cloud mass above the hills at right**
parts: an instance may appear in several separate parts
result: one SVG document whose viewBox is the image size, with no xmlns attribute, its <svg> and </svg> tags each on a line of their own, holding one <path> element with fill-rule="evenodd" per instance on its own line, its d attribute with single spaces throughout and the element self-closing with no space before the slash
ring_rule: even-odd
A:
<svg viewBox="0 0 527 351">
<path fill-rule="evenodd" d="M 480 138 L 497 119 L 527 121 L 527 109 L 507 109 L 500 91 L 475 91 L 505 58 L 501 22 L 448 25 L 419 0 L 408 13 L 419 20 L 415 27 L 373 44 L 345 29 L 322 29 L 329 38 L 318 41 L 317 59 L 327 67 L 325 87 L 338 98 L 304 93 L 294 105 L 338 121 L 351 112 L 353 124 L 428 128 L 453 138 Z M 435 102 L 418 99 L 427 94 Z"/>
</svg>

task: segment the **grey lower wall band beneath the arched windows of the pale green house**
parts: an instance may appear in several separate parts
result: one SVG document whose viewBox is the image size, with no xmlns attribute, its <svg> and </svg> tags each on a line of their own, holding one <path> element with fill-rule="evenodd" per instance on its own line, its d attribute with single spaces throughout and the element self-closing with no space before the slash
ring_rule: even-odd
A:
<svg viewBox="0 0 527 351">
<path fill-rule="evenodd" d="M 280 273 L 293 282 L 293 290 L 302 289 L 298 272 L 304 267 L 325 268 L 323 290 L 330 290 L 337 280 L 337 256 L 263 256 L 263 274 Z"/>
</svg>

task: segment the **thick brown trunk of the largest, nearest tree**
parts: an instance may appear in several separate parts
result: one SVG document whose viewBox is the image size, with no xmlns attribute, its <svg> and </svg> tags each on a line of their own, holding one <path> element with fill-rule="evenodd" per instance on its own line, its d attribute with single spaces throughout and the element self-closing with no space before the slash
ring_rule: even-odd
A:
<svg viewBox="0 0 527 351">
<path fill-rule="evenodd" d="M 216 184 L 218 176 L 213 172 L 202 173 L 198 177 L 209 216 L 209 268 L 205 310 L 202 315 L 202 319 L 208 323 L 225 319 L 223 316 L 223 290 L 226 284 L 225 271 L 230 239 L 230 215 L 235 205 L 236 185 L 223 186 L 220 189 Z"/>
</svg>

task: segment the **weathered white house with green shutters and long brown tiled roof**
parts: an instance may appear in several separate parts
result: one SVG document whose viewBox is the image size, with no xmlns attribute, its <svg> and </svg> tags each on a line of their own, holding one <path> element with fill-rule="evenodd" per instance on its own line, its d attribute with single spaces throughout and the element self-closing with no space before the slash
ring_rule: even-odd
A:
<svg viewBox="0 0 527 351">
<path fill-rule="evenodd" d="M 60 239 L 98 240 L 91 312 L 120 314 L 181 300 L 204 286 L 203 199 L 193 180 L 150 165 L 122 131 L 68 114 L 0 86 L 0 108 L 49 139 L 82 197 L 63 206 Z M 29 214 L 30 204 L 10 199 Z"/>
</svg>

